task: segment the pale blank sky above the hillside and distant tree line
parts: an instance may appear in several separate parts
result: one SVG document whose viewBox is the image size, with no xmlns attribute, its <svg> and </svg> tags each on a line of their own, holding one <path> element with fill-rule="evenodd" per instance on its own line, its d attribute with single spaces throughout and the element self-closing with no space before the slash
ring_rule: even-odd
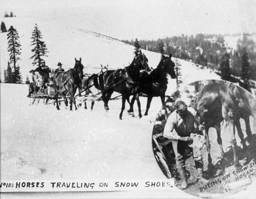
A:
<svg viewBox="0 0 256 199">
<path fill-rule="evenodd" d="M 254 0 L 0 0 L 0 16 L 55 20 L 117 39 L 256 32 Z"/>
</svg>

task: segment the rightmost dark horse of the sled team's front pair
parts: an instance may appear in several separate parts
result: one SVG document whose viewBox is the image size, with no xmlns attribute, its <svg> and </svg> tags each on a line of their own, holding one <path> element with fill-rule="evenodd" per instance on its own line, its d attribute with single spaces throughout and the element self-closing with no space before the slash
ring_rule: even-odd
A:
<svg viewBox="0 0 256 199">
<path fill-rule="evenodd" d="M 142 73 L 140 79 L 140 91 L 147 95 L 146 112 L 150 109 L 150 104 L 153 97 L 161 97 L 162 105 L 165 101 L 165 91 L 167 89 L 167 77 L 169 74 L 172 79 L 176 78 L 176 73 L 174 71 L 175 63 L 172 61 L 172 54 L 168 56 L 162 55 L 161 60 L 157 68 L 148 74 L 147 72 Z M 135 96 L 133 96 L 130 104 L 130 110 L 128 112 L 133 112 L 133 105 L 135 101 Z"/>
</svg>

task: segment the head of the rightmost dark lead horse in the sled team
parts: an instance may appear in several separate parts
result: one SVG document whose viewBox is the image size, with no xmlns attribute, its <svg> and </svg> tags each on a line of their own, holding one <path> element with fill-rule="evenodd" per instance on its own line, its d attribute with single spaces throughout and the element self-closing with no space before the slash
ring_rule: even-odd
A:
<svg viewBox="0 0 256 199">
<path fill-rule="evenodd" d="M 162 55 L 161 60 L 157 66 L 157 69 L 166 72 L 170 75 L 172 79 L 176 78 L 176 73 L 174 70 L 175 63 L 172 61 L 172 54 L 168 56 Z"/>
</svg>

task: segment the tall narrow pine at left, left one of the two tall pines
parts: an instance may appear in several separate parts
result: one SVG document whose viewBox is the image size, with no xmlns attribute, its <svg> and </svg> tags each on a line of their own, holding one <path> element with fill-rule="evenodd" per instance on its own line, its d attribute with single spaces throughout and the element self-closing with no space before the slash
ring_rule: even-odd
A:
<svg viewBox="0 0 256 199">
<path fill-rule="evenodd" d="M 13 83 L 16 83 L 16 63 L 18 60 L 20 60 L 19 55 L 21 54 L 21 48 L 20 48 L 20 41 L 19 36 L 16 31 L 16 29 L 11 26 L 11 28 L 8 30 L 7 39 L 8 39 L 8 52 L 10 52 L 10 64 L 13 63 L 14 68 L 14 79 Z"/>
</svg>

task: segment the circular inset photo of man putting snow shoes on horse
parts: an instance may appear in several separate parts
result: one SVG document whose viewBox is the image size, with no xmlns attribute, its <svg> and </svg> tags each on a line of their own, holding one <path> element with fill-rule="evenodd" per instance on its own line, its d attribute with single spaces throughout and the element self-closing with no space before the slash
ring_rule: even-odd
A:
<svg viewBox="0 0 256 199">
<path fill-rule="evenodd" d="M 232 195 L 256 181 L 256 99 L 220 80 L 191 83 L 170 96 L 153 129 L 164 175 L 185 192 Z"/>
</svg>

